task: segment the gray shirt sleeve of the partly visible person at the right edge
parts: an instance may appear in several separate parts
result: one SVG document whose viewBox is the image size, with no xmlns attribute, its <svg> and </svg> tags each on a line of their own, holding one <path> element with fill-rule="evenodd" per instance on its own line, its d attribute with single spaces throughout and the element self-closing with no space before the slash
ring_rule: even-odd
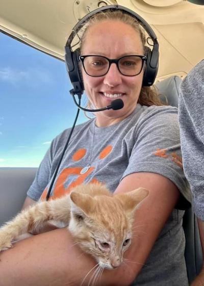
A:
<svg viewBox="0 0 204 286">
<path fill-rule="evenodd" d="M 179 123 L 184 172 L 193 194 L 193 209 L 204 221 L 204 60 L 181 84 Z"/>
</svg>

